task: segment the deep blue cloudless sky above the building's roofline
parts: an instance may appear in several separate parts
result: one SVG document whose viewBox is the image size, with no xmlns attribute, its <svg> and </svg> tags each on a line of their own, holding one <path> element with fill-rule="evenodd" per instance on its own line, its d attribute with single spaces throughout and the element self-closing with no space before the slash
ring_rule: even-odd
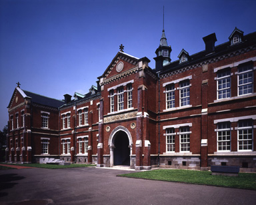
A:
<svg viewBox="0 0 256 205">
<path fill-rule="evenodd" d="M 203 37 L 228 41 L 235 27 L 256 31 L 255 0 L 0 1 L 0 130 L 7 124 L 13 91 L 21 89 L 63 99 L 96 85 L 121 43 L 124 52 L 147 57 L 154 69 L 163 29 L 172 61 L 181 49 L 203 51 Z"/>
</svg>

